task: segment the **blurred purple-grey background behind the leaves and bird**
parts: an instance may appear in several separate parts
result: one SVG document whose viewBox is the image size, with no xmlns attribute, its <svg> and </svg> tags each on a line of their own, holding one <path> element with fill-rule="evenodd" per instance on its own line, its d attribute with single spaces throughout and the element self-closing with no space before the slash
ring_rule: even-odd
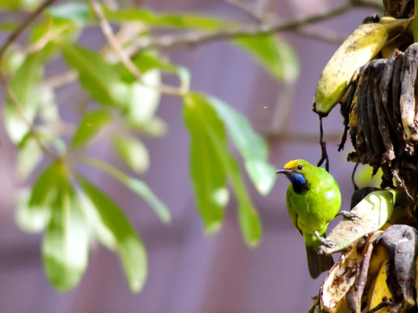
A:
<svg viewBox="0 0 418 313">
<path fill-rule="evenodd" d="M 325 12 L 343 0 L 281 0 L 274 10 L 283 20 Z M 247 15 L 222 0 L 145 0 L 144 8 L 158 12 L 195 12 L 231 16 Z M 316 24 L 341 36 L 348 35 L 364 17 L 378 13 L 355 9 Z M 309 29 L 309 28 L 308 28 Z M 336 45 L 295 35 L 282 34 L 297 52 L 301 74 L 294 86 L 280 86 L 247 54 L 226 42 L 208 42 L 172 52 L 172 62 L 192 72 L 192 88 L 215 95 L 249 117 L 251 125 L 268 138 L 270 161 L 281 167 L 291 159 L 317 163 L 318 117 L 311 111 L 314 89 L 320 72 Z M 6 35 L 3 35 L 6 38 Z M 99 29 L 88 29 L 80 40 L 91 47 L 104 42 Z M 49 69 L 59 72 L 56 68 Z M 3 97 L 3 95 L 2 95 Z M 132 294 L 127 287 L 116 255 L 104 248 L 91 254 L 86 275 L 67 294 L 50 286 L 40 259 L 40 235 L 25 234 L 15 225 L 13 194 L 15 147 L 0 127 L 0 307 L 5 313 L 270 313 L 307 312 L 311 296 L 318 293 L 321 280 L 311 280 L 304 242 L 295 231 L 286 211 L 288 181 L 278 177 L 272 192 L 259 195 L 246 177 L 255 207 L 263 223 L 263 241 L 249 249 L 242 241 L 231 199 L 222 231 L 213 236 L 203 232 L 189 179 L 188 138 L 179 99 L 164 96 L 157 115 L 169 124 L 167 136 L 145 138 L 152 161 L 144 180 L 169 205 L 171 225 L 160 223 L 143 200 L 121 184 L 89 172 L 95 182 L 126 210 L 139 230 L 148 251 L 149 271 L 144 291 Z M 65 108 L 65 106 L 64 106 Z M 68 118 L 71 111 L 68 110 Z M 288 114 L 288 115 L 287 115 Z M 286 123 L 286 125 L 284 125 Z M 348 209 L 353 186 L 353 163 L 346 150 L 337 152 L 343 131 L 336 108 L 324 120 L 330 171 L 341 186 L 343 207 Z M 286 134 L 283 133 L 286 130 Z M 293 136 L 292 134 L 302 134 Z M 334 134 L 334 135 L 333 135 Z M 117 165 L 111 147 L 100 141 L 93 154 Z M 334 225 L 334 224 L 333 224 Z"/>
</svg>

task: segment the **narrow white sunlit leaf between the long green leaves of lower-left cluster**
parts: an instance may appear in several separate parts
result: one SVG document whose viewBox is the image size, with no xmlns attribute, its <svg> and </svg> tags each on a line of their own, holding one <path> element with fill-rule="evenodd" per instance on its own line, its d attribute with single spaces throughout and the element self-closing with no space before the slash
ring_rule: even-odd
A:
<svg viewBox="0 0 418 313">
<path fill-rule="evenodd" d="M 102 216 L 98 214 L 95 205 L 81 189 L 77 190 L 79 201 L 86 214 L 88 224 L 93 228 L 94 238 L 111 251 L 116 251 L 116 239 L 109 227 L 104 223 Z"/>
</svg>

